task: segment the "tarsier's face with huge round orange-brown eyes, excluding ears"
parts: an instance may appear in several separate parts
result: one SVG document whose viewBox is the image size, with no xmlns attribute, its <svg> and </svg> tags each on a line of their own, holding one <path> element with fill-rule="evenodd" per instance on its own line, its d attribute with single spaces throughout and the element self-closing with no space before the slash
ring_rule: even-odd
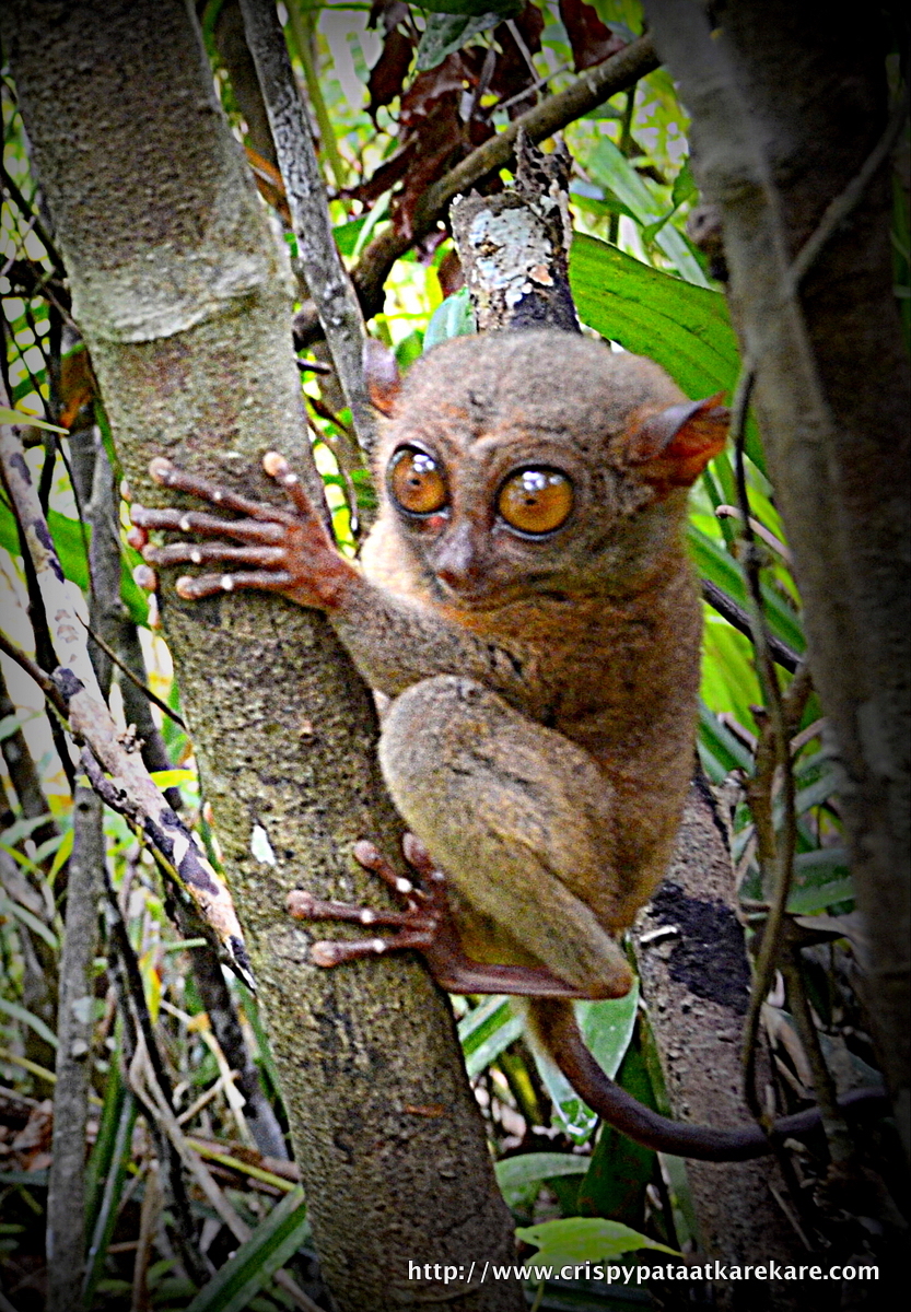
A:
<svg viewBox="0 0 911 1312">
<path fill-rule="evenodd" d="M 641 567 L 655 533 L 655 488 L 626 461 L 630 424 L 643 404 L 679 400 L 651 361 L 582 337 L 448 342 L 413 367 L 395 407 L 385 513 L 442 602 L 601 590 L 631 559 Z"/>
</svg>

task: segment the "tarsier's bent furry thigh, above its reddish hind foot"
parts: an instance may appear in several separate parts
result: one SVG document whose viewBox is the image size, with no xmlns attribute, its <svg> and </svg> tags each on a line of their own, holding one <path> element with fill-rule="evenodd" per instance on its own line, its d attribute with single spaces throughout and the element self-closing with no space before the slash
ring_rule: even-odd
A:
<svg viewBox="0 0 911 1312">
<path fill-rule="evenodd" d="M 462 903 L 567 983 L 616 980 L 613 795 L 582 748 L 440 676 L 392 702 L 379 761 Z"/>
</svg>

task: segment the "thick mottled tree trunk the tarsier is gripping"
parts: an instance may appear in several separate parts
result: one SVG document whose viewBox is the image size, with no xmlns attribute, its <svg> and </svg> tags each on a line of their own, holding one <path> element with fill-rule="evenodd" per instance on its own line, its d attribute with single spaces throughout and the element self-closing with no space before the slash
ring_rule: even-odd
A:
<svg viewBox="0 0 911 1312">
<path fill-rule="evenodd" d="M 268 496 L 261 454 L 308 450 L 289 277 L 189 9 L 21 0 L 4 49 L 134 493 L 155 502 L 146 467 L 168 454 Z M 311 967 L 284 909 L 293 887 L 379 896 L 352 845 L 398 851 L 366 689 L 285 601 L 167 586 L 163 614 L 337 1305 L 519 1307 L 515 1286 L 408 1279 L 513 1253 L 445 998 L 410 960 Z"/>
</svg>

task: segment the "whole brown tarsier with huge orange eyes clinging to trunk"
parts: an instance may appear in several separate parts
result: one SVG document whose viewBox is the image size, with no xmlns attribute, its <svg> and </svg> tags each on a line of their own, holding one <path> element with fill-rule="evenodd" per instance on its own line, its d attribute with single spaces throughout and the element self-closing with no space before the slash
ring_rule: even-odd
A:
<svg viewBox="0 0 911 1312">
<path fill-rule="evenodd" d="M 318 607 L 391 699 L 379 761 L 421 883 L 357 844 L 407 909 L 293 893 L 302 918 L 398 926 L 315 943 L 312 960 L 417 947 L 450 992 L 529 997 L 580 1096 L 639 1141 L 706 1158 L 767 1151 L 757 1127 L 641 1107 L 588 1054 L 570 1001 L 629 991 L 617 935 L 660 883 L 680 823 L 701 642 L 683 525 L 727 412 L 687 400 L 652 361 L 554 329 L 449 341 L 378 404 L 382 508 L 358 564 L 274 453 L 264 466 L 290 509 L 159 459 L 158 482 L 243 518 L 133 513 L 148 562 L 236 571 L 180 579 L 182 597 L 261 588 Z M 234 544 L 154 546 L 150 527 Z"/>
</svg>

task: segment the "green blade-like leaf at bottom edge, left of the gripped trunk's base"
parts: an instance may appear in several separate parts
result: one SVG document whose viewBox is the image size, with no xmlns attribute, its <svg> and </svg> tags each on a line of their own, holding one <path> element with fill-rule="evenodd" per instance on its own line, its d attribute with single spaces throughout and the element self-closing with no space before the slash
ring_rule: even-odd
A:
<svg viewBox="0 0 911 1312">
<path fill-rule="evenodd" d="M 303 1190 L 297 1187 L 200 1290 L 186 1312 L 242 1312 L 297 1253 L 308 1229 Z"/>
</svg>

